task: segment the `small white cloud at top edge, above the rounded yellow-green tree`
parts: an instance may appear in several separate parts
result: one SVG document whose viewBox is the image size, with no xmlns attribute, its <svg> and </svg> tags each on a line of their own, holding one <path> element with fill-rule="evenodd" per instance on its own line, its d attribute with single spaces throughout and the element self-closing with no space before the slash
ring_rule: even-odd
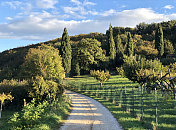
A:
<svg viewBox="0 0 176 130">
<path fill-rule="evenodd" d="M 55 4 L 57 3 L 57 0 L 36 0 L 37 7 L 42 9 L 55 8 Z"/>
</svg>

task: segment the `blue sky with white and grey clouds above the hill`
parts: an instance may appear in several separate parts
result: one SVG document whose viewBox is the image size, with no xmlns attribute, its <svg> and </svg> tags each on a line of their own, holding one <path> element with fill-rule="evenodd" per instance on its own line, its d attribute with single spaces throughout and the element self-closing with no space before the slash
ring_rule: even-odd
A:
<svg viewBox="0 0 176 130">
<path fill-rule="evenodd" d="M 0 0 L 0 52 L 112 26 L 176 20 L 176 0 Z"/>
</svg>

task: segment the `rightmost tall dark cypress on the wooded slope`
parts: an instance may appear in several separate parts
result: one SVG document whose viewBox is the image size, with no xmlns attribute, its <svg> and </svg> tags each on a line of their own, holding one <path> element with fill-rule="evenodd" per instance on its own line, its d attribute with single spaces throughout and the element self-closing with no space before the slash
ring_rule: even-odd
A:
<svg viewBox="0 0 176 130">
<path fill-rule="evenodd" d="M 164 40 L 163 40 L 163 29 L 161 24 L 158 24 L 158 28 L 155 33 L 155 48 L 158 50 L 158 55 L 163 56 L 164 54 Z"/>
</svg>

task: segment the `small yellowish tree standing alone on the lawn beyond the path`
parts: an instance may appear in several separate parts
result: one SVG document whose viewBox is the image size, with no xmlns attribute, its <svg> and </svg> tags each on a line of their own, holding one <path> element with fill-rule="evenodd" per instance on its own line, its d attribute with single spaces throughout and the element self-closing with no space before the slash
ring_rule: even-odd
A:
<svg viewBox="0 0 176 130">
<path fill-rule="evenodd" d="M 90 70 L 90 75 L 94 77 L 98 82 L 100 82 L 100 87 L 102 86 L 103 82 L 106 82 L 111 77 L 109 72 L 104 72 L 99 70 L 97 71 Z"/>
</svg>

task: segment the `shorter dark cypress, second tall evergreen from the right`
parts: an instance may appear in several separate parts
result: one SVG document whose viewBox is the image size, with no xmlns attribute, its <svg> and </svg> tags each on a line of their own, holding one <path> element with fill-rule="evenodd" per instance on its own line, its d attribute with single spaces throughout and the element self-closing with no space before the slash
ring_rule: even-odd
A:
<svg viewBox="0 0 176 130">
<path fill-rule="evenodd" d="M 126 46 L 126 54 L 128 56 L 130 55 L 134 55 L 134 43 L 133 43 L 133 39 L 131 37 L 131 33 L 128 32 L 127 34 L 127 46 Z"/>
</svg>

